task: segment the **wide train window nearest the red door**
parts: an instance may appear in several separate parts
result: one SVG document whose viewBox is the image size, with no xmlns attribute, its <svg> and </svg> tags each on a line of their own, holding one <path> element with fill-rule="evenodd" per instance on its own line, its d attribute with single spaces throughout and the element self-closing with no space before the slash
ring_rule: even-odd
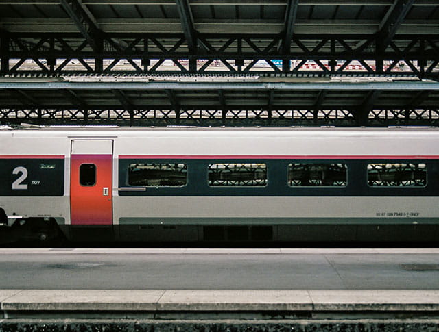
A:
<svg viewBox="0 0 439 332">
<path fill-rule="evenodd" d="M 128 166 L 128 184 L 144 187 L 182 187 L 187 183 L 187 165 L 138 163 Z"/>
</svg>

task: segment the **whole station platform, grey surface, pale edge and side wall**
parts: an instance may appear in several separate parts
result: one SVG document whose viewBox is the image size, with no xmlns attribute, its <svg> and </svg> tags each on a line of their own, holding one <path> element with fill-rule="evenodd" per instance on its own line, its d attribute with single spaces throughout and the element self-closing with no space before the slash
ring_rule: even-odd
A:
<svg viewBox="0 0 439 332">
<path fill-rule="evenodd" d="M 0 248 L 0 331 L 435 331 L 439 248 Z"/>
</svg>

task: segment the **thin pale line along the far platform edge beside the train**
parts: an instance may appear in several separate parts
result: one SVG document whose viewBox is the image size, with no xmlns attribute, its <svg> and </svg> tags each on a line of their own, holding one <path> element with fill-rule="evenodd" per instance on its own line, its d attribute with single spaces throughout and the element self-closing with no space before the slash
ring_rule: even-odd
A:
<svg viewBox="0 0 439 332">
<path fill-rule="evenodd" d="M 0 248 L 0 255 L 428 255 L 439 248 Z"/>
</svg>

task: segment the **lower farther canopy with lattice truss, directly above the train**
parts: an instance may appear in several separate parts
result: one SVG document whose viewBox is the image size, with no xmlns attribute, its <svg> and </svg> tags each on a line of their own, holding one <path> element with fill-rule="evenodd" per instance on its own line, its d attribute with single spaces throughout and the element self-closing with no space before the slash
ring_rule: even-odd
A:
<svg viewBox="0 0 439 332">
<path fill-rule="evenodd" d="M 439 84 L 0 83 L 3 125 L 439 125 Z"/>
</svg>

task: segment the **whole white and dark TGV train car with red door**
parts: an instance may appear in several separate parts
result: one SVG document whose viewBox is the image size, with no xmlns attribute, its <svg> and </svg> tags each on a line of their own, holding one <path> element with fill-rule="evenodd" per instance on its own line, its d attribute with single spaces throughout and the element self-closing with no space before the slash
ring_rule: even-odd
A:
<svg viewBox="0 0 439 332">
<path fill-rule="evenodd" d="M 2 129 L 0 222 L 73 240 L 436 241 L 439 130 Z"/>
</svg>

